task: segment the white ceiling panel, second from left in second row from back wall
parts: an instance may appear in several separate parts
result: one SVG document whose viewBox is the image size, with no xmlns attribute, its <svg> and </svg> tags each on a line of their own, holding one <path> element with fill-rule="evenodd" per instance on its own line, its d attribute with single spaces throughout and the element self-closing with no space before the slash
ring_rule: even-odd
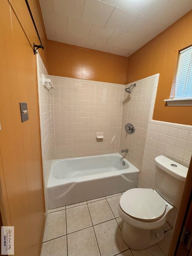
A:
<svg viewBox="0 0 192 256">
<path fill-rule="evenodd" d="M 92 24 L 81 20 L 68 17 L 67 21 L 67 34 L 88 38 L 91 31 Z"/>
</svg>

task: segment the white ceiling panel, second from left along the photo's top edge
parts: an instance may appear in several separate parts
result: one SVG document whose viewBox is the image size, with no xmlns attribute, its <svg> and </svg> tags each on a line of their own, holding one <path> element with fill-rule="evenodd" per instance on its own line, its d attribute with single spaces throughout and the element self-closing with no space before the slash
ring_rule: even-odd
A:
<svg viewBox="0 0 192 256">
<path fill-rule="evenodd" d="M 44 0 L 45 1 L 45 0 Z M 81 19 L 85 0 L 52 0 L 54 12 Z"/>
</svg>

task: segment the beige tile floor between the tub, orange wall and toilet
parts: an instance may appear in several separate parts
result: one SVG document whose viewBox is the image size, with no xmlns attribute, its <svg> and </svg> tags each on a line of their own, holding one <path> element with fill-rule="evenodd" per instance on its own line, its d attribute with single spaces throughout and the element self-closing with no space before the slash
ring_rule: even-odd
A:
<svg viewBox="0 0 192 256">
<path fill-rule="evenodd" d="M 123 221 L 117 210 L 122 193 L 63 206 L 49 211 L 41 256 L 165 256 L 172 227 L 164 225 L 158 245 L 134 251 L 121 236 Z"/>
</svg>

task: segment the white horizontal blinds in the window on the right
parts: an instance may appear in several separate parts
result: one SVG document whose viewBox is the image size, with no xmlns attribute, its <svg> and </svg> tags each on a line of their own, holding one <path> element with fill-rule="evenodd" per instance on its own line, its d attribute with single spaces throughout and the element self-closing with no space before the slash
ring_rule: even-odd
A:
<svg viewBox="0 0 192 256">
<path fill-rule="evenodd" d="M 179 53 L 170 98 L 192 98 L 192 46 Z"/>
</svg>

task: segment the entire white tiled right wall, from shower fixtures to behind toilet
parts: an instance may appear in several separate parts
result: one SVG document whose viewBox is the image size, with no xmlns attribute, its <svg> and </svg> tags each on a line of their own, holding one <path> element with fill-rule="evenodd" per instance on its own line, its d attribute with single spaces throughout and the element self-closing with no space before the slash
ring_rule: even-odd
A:
<svg viewBox="0 0 192 256">
<path fill-rule="evenodd" d="M 159 74 L 133 82 L 136 87 L 124 98 L 119 152 L 129 149 L 128 154 L 122 155 L 140 170 L 140 188 L 155 188 L 156 156 L 165 155 L 188 167 L 192 152 L 192 126 L 152 120 L 158 77 Z M 132 135 L 125 133 L 128 122 L 136 128 Z M 176 214 L 174 209 L 168 220 L 172 227 Z"/>
</svg>

